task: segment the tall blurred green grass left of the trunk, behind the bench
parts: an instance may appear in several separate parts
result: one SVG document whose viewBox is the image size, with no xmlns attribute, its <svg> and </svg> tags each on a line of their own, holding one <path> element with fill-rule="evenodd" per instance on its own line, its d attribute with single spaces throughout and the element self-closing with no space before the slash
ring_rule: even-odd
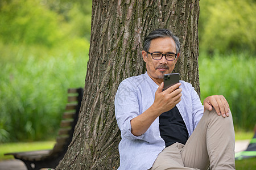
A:
<svg viewBox="0 0 256 170">
<path fill-rule="evenodd" d="M 67 89 L 84 87 L 89 44 L 44 49 L 0 44 L 0 142 L 50 139 Z"/>
</svg>

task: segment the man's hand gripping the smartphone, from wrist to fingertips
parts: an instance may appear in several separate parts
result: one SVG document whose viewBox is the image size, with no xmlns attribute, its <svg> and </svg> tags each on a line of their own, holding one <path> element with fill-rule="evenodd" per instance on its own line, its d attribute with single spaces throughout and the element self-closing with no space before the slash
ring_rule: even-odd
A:
<svg viewBox="0 0 256 170">
<path fill-rule="evenodd" d="M 163 83 L 160 84 L 158 90 L 155 92 L 155 101 L 153 107 L 158 113 L 170 111 L 181 100 L 181 83 L 174 84 L 173 86 L 163 90 Z M 159 116 L 160 116 L 159 114 Z"/>
</svg>

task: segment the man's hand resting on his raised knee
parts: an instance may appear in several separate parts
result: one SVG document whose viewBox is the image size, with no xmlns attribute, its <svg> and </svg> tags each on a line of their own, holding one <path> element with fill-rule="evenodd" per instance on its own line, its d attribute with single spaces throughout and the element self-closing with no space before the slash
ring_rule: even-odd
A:
<svg viewBox="0 0 256 170">
<path fill-rule="evenodd" d="M 212 111 L 212 108 L 215 109 L 218 116 L 229 116 L 229 104 L 224 96 L 214 95 L 206 97 L 204 99 L 204 110 L 207 109 L 208 111 Z"/>
</svg>

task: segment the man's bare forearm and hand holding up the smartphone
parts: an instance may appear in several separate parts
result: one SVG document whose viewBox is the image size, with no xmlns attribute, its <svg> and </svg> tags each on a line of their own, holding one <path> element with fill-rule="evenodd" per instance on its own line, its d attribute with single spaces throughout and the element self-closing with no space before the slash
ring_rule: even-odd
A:
<svg viewBox="0 0 256 170">
<path fill-rule="evenodd" d="M 160 114 L 170 111 L 181 100 L 181 83 L 167 88 L 163 91 L 163 83 L 160 84 L 155 92 L 155 101 L 142 114 L 131 120 L 131 133 L 135 136 L 142 135 L 147 131 L 152 122 L 160 116 Z"/>
</svg>

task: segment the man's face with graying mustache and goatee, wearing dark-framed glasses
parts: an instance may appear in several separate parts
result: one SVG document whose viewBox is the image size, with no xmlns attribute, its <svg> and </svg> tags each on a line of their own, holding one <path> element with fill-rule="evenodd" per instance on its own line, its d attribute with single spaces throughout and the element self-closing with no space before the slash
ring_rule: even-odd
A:
<svg viewBox="0 0 256 170">
<path fill-rule="evenodd" d="M 153 39 L 151 40 L 148 52 L 160 52 L 162 54 L 169 52 L 176 53 L 175 41 L 171 37 Z M 142 51 L 142 57 L 144 62 L 146 62 L 147 74 L 156 84 L 160 84 L 163 82 L 164 74 L 172 73 L 174 70 L 179 53 L 174 61 L 168 61 L 164 56 L 160 60 L 155 60 L 151 57 L 151 54 L 147 54 L 144 50 Z"/>
</svg>

